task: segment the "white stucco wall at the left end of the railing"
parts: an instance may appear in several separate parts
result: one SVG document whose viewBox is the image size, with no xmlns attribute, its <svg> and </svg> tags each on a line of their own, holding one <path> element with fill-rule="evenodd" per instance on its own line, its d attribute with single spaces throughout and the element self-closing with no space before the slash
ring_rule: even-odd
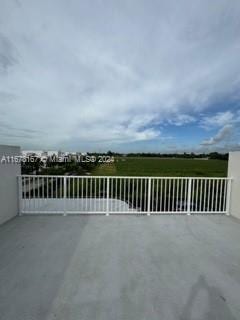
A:
<svg viewBox="0 0 240 320">
<path fill-rule="evenodd" d="M 20 147 L 0 145 L 0 224 L 18 213 L 17 175 L 21 173 L 21 167 L 1 161 L 3 156 L 15 155 L 20 155 Z"/>
</svg>

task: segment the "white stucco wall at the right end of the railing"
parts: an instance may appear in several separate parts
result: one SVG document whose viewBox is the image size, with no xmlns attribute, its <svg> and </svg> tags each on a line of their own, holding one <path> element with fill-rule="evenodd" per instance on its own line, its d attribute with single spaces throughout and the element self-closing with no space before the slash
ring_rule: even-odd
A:
<svg viewBox="0 0 240 320">
<path fill-rule="evenodd" d="M 240 219 L 240 151 L 229 153 L 228 177 L 233 178 L 230 214 Z"/>
</svg>

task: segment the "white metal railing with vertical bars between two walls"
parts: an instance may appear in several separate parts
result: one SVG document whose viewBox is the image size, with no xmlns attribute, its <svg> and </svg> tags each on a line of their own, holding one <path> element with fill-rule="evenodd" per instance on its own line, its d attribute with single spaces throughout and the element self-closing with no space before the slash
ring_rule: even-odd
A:
<svg viewBox="0 0 240 320">
<path fill-rule="evenodd" d="M 22 175 L 19 213 L 228 214 L 230 178 Z"/>
</svg>

